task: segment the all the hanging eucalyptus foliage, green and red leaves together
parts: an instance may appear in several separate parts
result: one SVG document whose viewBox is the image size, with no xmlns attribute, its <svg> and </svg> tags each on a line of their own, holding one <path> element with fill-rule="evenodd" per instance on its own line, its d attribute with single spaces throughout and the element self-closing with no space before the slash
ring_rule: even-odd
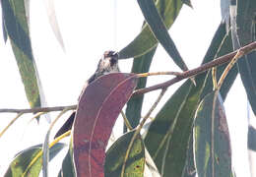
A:
<svg viewBox="0 0 256 177">
<path fill-rule="evenodd" d="M 191 6 L 190 1 L 137 1 L 145 22 L 135 39 L 119 52 L 119 59 L 134 58 L 131 73 L 112 73 L 96 79 L 81 94 L 72 133 L 67 132 L 48 145 L 52 126 L 67 108 L 51 124 L 44 145 L 21 151 L 15 156 L 5 176 L 37 176 L 40 170 L 43 176 L 47 176 L 48 160 L 62 150 L 64 145 L 58 142 L 69 135 L 69 150 L 62 161 L 59 176 L 234 176 L 224 98 L 239 72 L 252 109 L 256 112 L 256 70 L 253 59 L 256 57 L 255 0 L 243 3 L 222 1 L 224 21 L 216 31 L 202 65 L 193 71 L 186 66 L 186 61 L 181 58 L 167 31 L 182 7 Z M 2 28 L 5 40 L 11 41 L 33 108 L 42 105 L 43 93 L 32 55 L 27 3 L 26 0 L 1 0 Z M 57 26 L 55 28 L 63 46 L 59 29 Z M 233 52 L 248 43 L 254 43 L 254 48 Z M 158 45 L 162 45 L 169 58 L 184 71 L 183 74 L 145 74 L 150 69 Z M 226 60 L 229 62 L 216 62 L 208 71 L 201 70 L 221 56 L 229 57 Z M 237 65 L 233 65 L 238 58 Z M 143 94 L 136 94 L 136 91 L 155 90 L 154 87 L 145 89 L 146 77 L 164 74 L 177 76 L 157 86 L 162 90 L 160 96 L 141 119 Z M 145 123 L 166 88 L 182 79 L 188 80 L 168 98 L 146 129 Z M 125 104 L 127 117 L 124 116 L 124 119 L 132 130 L 128 130 L 106 150 L 113 125 Z M 129 129 L 127 124 L 125 131 Z M 144 136 L 141 135 L 143 128 L 146 131 Z M 255 150 L 253 139 L 256 136 L 251 130 L 255 132 L 250 127 L 248 146 Z M 147 173 L 146 169 L 149 169 Z"/>
</svg>

